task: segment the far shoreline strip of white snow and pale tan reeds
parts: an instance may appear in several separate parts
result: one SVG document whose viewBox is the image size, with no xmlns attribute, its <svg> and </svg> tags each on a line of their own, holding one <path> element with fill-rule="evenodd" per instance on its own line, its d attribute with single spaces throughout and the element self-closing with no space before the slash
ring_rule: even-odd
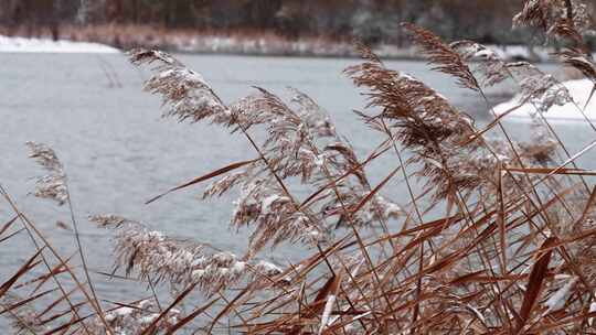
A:
<svg viewBox="0 0 596 335">
<path fill-rule="evenodd" d="M 77 41 L 49 37 L 29 39 L 0 35 L 0 53 L 119 53 L 110 45 L 123 48 L 146 46 L 192 54 L 235 54 L 258 56 L 312 56 L 312 57 L 359 57 L 352 42 L 333 41 L 323 37 L 301 37 L 287 40 L 277 35 L 210 35 L 210 34 L 123 34 L 110 37 L 109 34 L 88 36 L 74 34 Z M 553 48 L 523 45 L 487 45 L 503 61 L 551 62 Z M 373 47 L 374 53 L 386 60 L 424 60 L 415 46 L 397 46 L 382 43 Z"/>
</svg>

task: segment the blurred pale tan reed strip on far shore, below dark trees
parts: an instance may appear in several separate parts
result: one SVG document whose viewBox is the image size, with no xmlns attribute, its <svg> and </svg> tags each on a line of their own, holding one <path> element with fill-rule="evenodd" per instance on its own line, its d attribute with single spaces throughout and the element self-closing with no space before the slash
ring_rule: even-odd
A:
<svg viewBox="0 0 596 335">
<path fill-rule="evenodd" d="M 55 32 L 54 32 L 55 33 Z M 50 30 L 2 29 L 0 35 L 92 42 L 120 50 L 136 47 L 159 48 L 188 54 L 231 54 L 249 56 L 292 57 L 359 57 L 350 40 L 330 36 L 290 39 L 267 32 L 217 32 L 196 30 L 166 30 L 146 25 L 63 26 L 58 34 Z M 488 45 L 504 61 L 552 62 L 554 50 L 524 45 Z M 421 61 L 415 47 L 394 43 L 372 45 L 375 54 L 385 60 Z"/>
</svg>

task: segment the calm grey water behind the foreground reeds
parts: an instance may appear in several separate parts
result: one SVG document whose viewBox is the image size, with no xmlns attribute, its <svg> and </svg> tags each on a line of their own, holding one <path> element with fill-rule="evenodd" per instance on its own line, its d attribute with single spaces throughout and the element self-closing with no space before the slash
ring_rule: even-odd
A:
<svg viewBox="0 0 596 335">
<path fill-rule="evenodd" d="M 342 69 L 356 60 L 278 58 L 219 55 L 181 55 L 191 68 L 203 74 L 227 101 L 260 86 L 284 94 L 287 86 L 310 95 L 326 108 L 337 129 L 365 155 L 383 137 L 365 127 L 352 114 L 365 101 Z M 448 97 L 457 107 L 477 118 L 489 120 L 486 104 L 476 94 L 458 88 L 449 77 L 428 71 L 424 63 L 387 62 L 406 71 Z M 70 223 L 65 206 L 38 199 L 33 177 L 42 173 L 28 159 L 25 141 L 50 144 L 65 165 L 73 205 L 82 230 L 89 267 L 111 269 L 109 231 L 87 221 L 92 214 L 118 214 L 143 221 L 167 234 L 211 242 L 221 249 L 242 252 L 246 231 L 228 228 L 231 198 L 201 202 L 201 187 L 181 191 L 151 205 L 151 196 L 180 182 L 232 162 L 255 158 L 240 136 L 206 123 L 180 125 L 160 118 L 160 100 L 141 91 L 147 72 L 131 66 L 124 55 L 89 54 L 0 54 L 0 183 L 14 197 L 63 255 L 75 250 L 72 233 L 57 228 Z M 489 99 L 503 99 L 500 90 Z M 528 123 L 507 123 L 520 138 L 529 134 Z M 571 143 L 572 153 L 593 141 L 594 131 L 584 123 L 555 126 Z M 590 166 L 594 155 L 582 160 Z M 373 182 L 389 172 L 390 158 L 372 165 Z M 375 173 L 379 172 L 379 173 Z M 397 202 L 406 202 L 403 185 L 387 185 Z M 12 217 L 8 204 L 0 201 L 0 224 Z M 32 255 L 24 235 L 0 245 L 0 282 Z M 291 248 L 270 255 L 284 263 Z M 104 279 L 104 278 L 103 278 Z M 148 293 L 145 288 L 107 280 L 96 283 L 102 298 L 132 300 Z M 135 293 L 131 295 L 128 293 Z"/>
</svg>

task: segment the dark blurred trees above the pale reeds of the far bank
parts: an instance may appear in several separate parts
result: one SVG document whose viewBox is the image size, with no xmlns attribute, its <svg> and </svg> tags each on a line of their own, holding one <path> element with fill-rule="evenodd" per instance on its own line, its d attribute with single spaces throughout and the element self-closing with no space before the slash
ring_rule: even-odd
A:
<svg viewBox="0 0 596 335">
<path fill-rule="evenodd" d="M 50 29 L 54 37 L 61 25 L 149 24 L 402 44 L 398 22 L 409 21 L 449 40 L 521 43 L 532 33 L 510 31 L 521 7 L 520 0 L 2 0 L 0 25 L 31 35 Z"/>
</svg>

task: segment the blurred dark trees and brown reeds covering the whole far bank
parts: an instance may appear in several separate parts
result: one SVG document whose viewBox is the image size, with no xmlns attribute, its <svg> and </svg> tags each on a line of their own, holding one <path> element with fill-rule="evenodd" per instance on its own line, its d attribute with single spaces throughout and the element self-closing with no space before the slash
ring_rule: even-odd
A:
<svg viewBox="0 0 596 335">
<path fill-rule="evenodd" d="M 551 52 L 541 48 L 544 40 L 536 29 L 510 30 L 519 6 L 514 0 L 6 2 L 0 8 L 0 34 L 96 42 L 124 50 L 355 56 L 352 41 L 358 39 L 383 57 L 417 57 L 398 26 L 404 21 L 449 41 L 469 39 L 498 48 L 529 46 L 512 57 L 544 61 Z M 588 3 L 582 10 L 594 17 L 596 7 Z M 584 37 L 586 45 L 594 45 L 594 36 Z"/>
</svg>

